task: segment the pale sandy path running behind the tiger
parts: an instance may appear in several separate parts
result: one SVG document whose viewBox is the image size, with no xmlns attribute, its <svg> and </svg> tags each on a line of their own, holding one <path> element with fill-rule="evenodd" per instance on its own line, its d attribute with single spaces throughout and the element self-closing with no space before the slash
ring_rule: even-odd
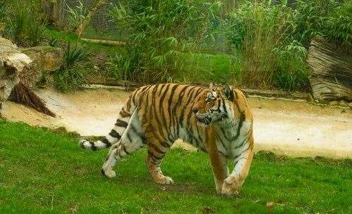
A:
<svg viewBox="0 0 352 214">
<path fill-rule="evenodd" d="M 56 118 L 5 102 L 1 114 L 11 121 L 44 127 L 66 127 L 81 135 L 105 135 L 116 120 L 129 92 L 118 89 L 87 89 L 61 94 L 37 92 Z M 254 115 L 255 151 L 288 156 L 352 158 L 352 111 L 322 108 L 304 101 L 248 99 Z M 176 144 L 185 146 L 182 142 Z"/>
</svg>

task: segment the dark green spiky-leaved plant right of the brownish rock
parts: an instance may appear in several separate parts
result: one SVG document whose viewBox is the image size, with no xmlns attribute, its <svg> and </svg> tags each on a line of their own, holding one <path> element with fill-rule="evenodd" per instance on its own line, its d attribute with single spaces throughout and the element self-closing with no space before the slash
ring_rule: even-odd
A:
<svg viewBox="0 0 352 214">
<path fill-rule="evenodd" d="M 56 89 L 69 92 L 85 83 L 84 68 L 76 65 L 90 56 L 90 51 L 80 44 L 69 42 L 63 54 L 63 65 L 54 75 Z"/>
</svg>

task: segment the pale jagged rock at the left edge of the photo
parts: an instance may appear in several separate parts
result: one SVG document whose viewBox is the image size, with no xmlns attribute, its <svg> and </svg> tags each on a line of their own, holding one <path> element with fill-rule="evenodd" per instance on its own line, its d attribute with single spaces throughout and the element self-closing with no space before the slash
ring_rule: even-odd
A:
<svg viewBox="0 0 352 214">
<path fill-rule="evenodd" d="M 8 99 L 13 87 L 20 82 L 19 73 L 32 61 L 21 53 L 16 44 L 0 37 L 0 103 Z"/>
</svg>

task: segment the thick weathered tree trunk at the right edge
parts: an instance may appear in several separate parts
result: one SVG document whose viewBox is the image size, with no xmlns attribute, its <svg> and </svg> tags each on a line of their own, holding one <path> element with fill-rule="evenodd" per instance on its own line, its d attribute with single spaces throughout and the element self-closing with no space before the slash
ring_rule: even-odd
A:
<svg viewBox="0 0 352 214">
<path fill-rule="evenodd" d="M 318 100 L 352 101 L 351 46 L 331 44 L 321 37 L 310 43 L 307 63 L 312 96 Z"/>
</svg>

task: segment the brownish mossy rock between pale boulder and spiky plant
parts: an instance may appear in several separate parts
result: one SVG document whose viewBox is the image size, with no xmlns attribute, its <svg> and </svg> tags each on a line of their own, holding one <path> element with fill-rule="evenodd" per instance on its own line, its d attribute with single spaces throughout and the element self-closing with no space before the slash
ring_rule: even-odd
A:
<svg viewBox="0 0 352 214">
<path fill-rule="evenodd" d="M 33 68 L 40 72 L 51 73 L 62 65 L 63 51 L 52 46 L 35 46 L 21 50 L 33 61 Z"/>
</svg>

